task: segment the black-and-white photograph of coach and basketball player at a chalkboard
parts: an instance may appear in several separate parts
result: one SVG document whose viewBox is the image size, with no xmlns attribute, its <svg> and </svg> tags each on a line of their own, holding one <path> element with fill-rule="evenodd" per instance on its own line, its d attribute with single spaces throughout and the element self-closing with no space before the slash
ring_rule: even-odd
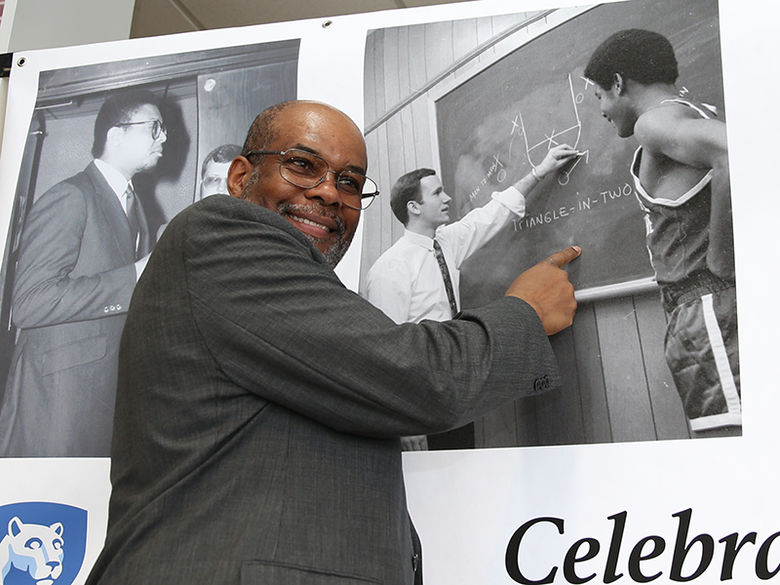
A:
<svg viewBox="0 0 780 585">
<path fill-rule="evenodd" d="M 365 123 L 383 195 L 360 291 L 396 322 L 448 320 L 583 250 L 574 325 L 551 338 L 561 391 L 427 448 L 741 436 L 717 1 L 371 30 Z"/>
</svg>

